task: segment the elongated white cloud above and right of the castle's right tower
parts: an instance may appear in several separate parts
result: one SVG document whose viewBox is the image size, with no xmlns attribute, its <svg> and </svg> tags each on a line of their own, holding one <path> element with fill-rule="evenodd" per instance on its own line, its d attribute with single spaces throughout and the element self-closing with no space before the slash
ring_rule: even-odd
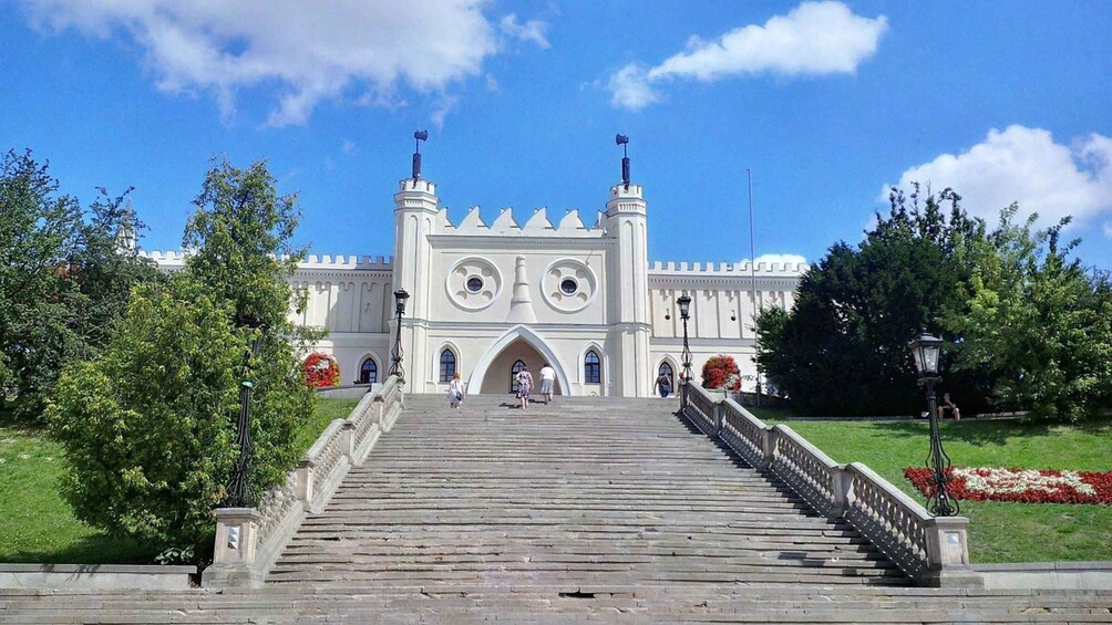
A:
<svg viewBox="0 0 1112 625">
<path fill-rule="evenodd" d="M 648 70 L 629 64 L 610 78 L 615 107 L 642 109 L 659 100 L 652 84 L 675 79 L 713 82 L 731 75 L 853 74 L 876 52 L 887 18 L 856 16 L 842 2 L 803 2 L 765 24 L 735 28 L 714 41 L 693 37 L 687 50 Z"/>
</svg>

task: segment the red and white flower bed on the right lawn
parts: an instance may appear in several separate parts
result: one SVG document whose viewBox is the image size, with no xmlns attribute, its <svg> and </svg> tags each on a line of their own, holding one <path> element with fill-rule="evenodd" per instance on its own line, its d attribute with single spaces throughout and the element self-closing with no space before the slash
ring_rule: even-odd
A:
<svg viewBox="0 0 1112 625">
<path fill-rule="evenodd" d="M 1112 504 L 1112 471 L 956 467 L 947 490 L 955 500 L 1054 504 Z M 926 496 L 934 494 L 934 471 L 904 470 L 904 476 Z"/>
</svg>

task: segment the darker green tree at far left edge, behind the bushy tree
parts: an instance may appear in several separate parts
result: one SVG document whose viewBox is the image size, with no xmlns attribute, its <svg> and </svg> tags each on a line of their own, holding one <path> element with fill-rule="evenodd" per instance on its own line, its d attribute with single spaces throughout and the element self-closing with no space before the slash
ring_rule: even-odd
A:
<svg viewBox="0 0 1112 625">
<path fill-rule="evenodd" d="M 0 174 L 0 402 L 39 415 L 58 372 L 105 345 L 130 288 L 157 280 L 133 250 L 118 253 L 123 196 L 90 206 L 59 194 L 30 151 L 3 157 Z M 125 194 L 126 195 L 126 194 Z M 132 221 L 132 228 L 140 224 Z"/>
</svg>

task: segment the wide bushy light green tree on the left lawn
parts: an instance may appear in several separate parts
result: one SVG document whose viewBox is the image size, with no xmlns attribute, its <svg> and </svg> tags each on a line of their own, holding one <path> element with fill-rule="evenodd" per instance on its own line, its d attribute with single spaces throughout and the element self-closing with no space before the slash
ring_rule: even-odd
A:
<svg viewBox="0 0 1112 625">
<path fill-rule="evenodd" d="M 206 548 L 235 461 L 244 335 L 179 274 L 141 285 L 108 347 L 67 365 L 47 410 L 78 518 L 153 548 Z"/>
</svg>

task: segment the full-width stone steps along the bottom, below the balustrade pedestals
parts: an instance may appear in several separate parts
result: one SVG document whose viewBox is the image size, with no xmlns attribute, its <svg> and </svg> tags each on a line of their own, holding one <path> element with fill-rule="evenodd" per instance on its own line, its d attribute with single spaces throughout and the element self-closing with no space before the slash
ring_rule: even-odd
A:
<svg viewBox="0 0 1112 625">
<path fill-rule="evenodd" d="M 0 592 L 3 623 L 1112 623 L 1112 593 L 929 588 L 274 585 L 254 592 Z M 46 601 L 43 601 L 46 599 Z"/>
</svg>

